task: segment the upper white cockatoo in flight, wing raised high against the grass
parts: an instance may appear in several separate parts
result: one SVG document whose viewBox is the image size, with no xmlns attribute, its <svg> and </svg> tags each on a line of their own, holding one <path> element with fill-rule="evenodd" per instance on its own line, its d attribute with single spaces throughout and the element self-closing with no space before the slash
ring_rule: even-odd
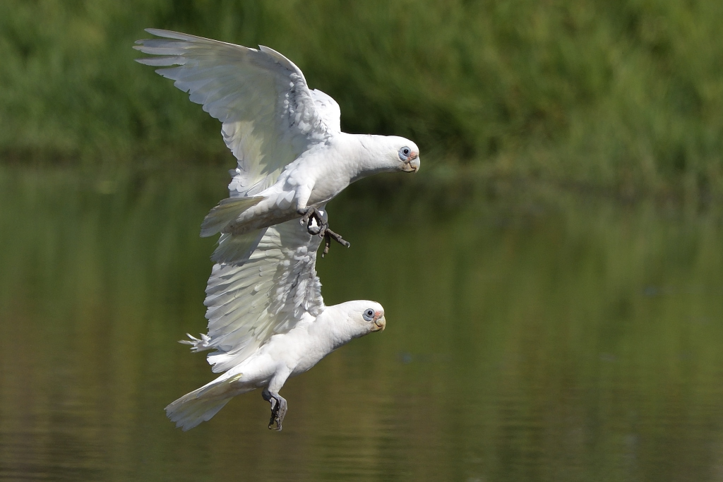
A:
<svg viewBox="0 0 723 482">
<path fill-rule="evenodd" d="M 162 38 L 138 40 L 134 48 L 155 57 L 137 61 L 166 67 L 156 72 L 223 123 L 223 140 L 238 159 L 231 196 L 201 226 L 202 236 L 222 234 L 215 262 L 248 257 L 262 228 L 299 216 L 309 233 L 325 237 L 325 252 L 332 238 L 348 246 L 328 229 L 322 206 L 365 176 L 419 170 L 411 140 L 341 132 L 338 103 L 309 90 L 299 67 L 281 53 L 146 31 Z"/>
</svg>

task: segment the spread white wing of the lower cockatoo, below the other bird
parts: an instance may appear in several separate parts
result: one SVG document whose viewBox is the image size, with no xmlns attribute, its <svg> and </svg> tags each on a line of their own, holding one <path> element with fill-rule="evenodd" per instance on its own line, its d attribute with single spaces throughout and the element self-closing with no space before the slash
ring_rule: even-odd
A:
<svg viewBox="0 0 723 482">
<path fill-rule="evenodd" d="M 197 351 L 215 348 L 208 362 L 213 371 L 226 371 L 271 336 L 312 322 L 324 309 L 315 269 L 320 243 L 291 220 L 265 228 L 238 263 L 215 264 L 206 287 L 208 335 L 184 343 Z"/>
</svg>

